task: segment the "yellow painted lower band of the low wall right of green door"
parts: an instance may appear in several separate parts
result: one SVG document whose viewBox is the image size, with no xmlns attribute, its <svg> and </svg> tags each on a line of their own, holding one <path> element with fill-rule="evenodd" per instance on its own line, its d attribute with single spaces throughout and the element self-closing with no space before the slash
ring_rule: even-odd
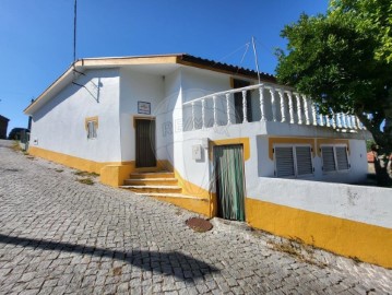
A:
<svg viewBox="0 0 392 295">
<path fill-rule="evenodd" d="M 320 213 L 246 199 L 247 222 L 274 235 L 361 261 L 392 268 L 392 229 Z"/>
</svg>

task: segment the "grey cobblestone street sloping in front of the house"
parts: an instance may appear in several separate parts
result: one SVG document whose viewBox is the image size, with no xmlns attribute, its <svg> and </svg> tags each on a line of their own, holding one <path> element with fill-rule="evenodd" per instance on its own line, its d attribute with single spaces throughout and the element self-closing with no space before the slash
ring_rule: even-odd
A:
<svg viewBox="0 0 392 295">
<path fill-rule="evenodd" d="M 81 184 L 75 170 L 5 145 L 0 294 L 392 293 L 391 270 L 217 219 L 195 233 L 185 224 L 194 213 Z"/>
</svg>

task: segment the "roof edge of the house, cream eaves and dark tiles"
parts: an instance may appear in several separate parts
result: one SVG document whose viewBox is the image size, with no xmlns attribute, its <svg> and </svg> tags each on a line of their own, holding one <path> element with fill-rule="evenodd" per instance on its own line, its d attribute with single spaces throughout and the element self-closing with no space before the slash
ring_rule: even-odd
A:
<svg viewBox="0 0 392 295">
<path fill-rule="evenodd" d="M 243 76 L 248 79 L 258 79 L 258 73 L 250 69 L 240 68 L 210 59 L 194 57 L 188 54 L 170 55 L 152 55 L 152 56 L 130 56 L 130 57 L 102 57 L 102 58 L 83 58 L 74 61 L 68 70 L 62 73 L 52 84 L 49 85 L 31 105 L 24 109 L 24 114 L 32 115 L 35 110 L 51 99 L 56 93 L 70 84 L 74 74 L 83 73 L 88 69 L 107 69 L 121 68 L 127 66 L 145 66 L 145 64 L 178 64 L 205 69 L 215 72 Z M 272 74 L 260 73 L 263 81 L 276 82 Z"/>
</svg>

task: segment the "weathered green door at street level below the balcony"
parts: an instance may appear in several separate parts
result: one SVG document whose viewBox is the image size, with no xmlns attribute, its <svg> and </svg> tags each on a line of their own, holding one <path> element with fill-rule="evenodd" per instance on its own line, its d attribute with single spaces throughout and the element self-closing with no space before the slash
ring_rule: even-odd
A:
<svg viewBox="0 0 392 295">
<path fill-rule="evenodd" d="M 214 146 L 214 173 L 218 216 L 245 221 L 242 145 Z"/>
</svg>

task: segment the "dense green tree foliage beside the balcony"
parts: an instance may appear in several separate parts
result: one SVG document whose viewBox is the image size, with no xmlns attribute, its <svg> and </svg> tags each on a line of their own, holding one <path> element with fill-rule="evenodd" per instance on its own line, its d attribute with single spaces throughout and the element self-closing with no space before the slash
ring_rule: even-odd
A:
<svg viewBox="0 0 392 295">
<path fill-rule="evenodd" d="M 284 27 L 288 44 L 277 50 L 277 79 L 312 97 L 325 115 L 358 116 L 391 151 L 391 0 L 331 0 L 325 14 L 302 14 Z"/>
</svg>

